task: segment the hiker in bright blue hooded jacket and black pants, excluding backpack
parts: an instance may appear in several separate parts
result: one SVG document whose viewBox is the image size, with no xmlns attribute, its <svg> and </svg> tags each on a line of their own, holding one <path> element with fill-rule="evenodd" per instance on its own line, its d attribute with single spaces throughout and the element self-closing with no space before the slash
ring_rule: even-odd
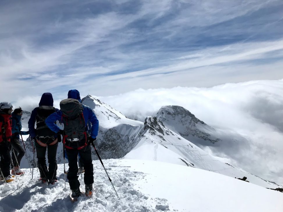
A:
<svg viewBox="0 0 283 212">
<path fill-rule="evenodd" d="M 68 92 L 68 98 L 76 99 L 79 100 L 81 103 L 81 97 L 80 93 L 78 90 L 70 90 Z M 90 132 L 89 138 L 88 138 L 88 144 L 92 143 L 95 141 L 96 136 L 98 134 L 98 120 L 92 111 L 90 107 L 86 105 L 83 106 L 83 116 L 85 120 L 85 126 L 89 127 L 90 129 L 88 132 Z M 55 124 L 55 122 L 61 121 L 62 120 L 62 112 L 59 110 L 53 114 L 51 114 L 46 120 L 45 123 L 47 126 L 53 130 L 54 132 L 58 133 L 60 132 L 60 128 Z M 91 123 L 91 127 L 90 124 Z M 69 171 L 67 174 L 67 179 L 69 180 L 70 184 L 70 189 L 72 190 L 72 197 L 78 197 L 81 195 L 80 191 L 80 183 L 78 180 L 78 164 L 77 164 L 77 156 L 78 153 L 81 156 L 81 159 L 83 160 L 84 163 L 84 183 L 85 183 L 85 188 L 86 188 L 86 194 L 91 194 L 92 193 L 92 184 L 93 184 L 93 165 L 92 165 L 92 158 L 91 158 L 91 149 L 90 145 L 86 145 L 83 149 L 79 148 L 74 148 L 71 146 L 72 144 L 70 143 L 70 146 L 66 143 L 66 153 L 68 156 L 69 160 Z"/>
</svg>

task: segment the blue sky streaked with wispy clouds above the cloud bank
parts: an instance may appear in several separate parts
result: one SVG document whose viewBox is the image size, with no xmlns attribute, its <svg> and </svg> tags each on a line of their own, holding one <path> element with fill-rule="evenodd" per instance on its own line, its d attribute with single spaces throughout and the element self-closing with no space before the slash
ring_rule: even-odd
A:
<svg viewBox="0 0 283 212">
<path fill-rule="evenodd" d="M 3 101 L 282 79 L 282 1 L 1 1 Z M 12 98 L 12 99 L 10 99 Z"/>
</svg>

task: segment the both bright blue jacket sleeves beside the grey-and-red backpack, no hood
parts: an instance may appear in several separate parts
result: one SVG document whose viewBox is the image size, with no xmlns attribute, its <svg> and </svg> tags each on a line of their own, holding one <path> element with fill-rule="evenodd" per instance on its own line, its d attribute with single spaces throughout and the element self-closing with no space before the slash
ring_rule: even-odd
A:
<svg viewBox="0 0 283 212">
<path fill-rule="evenodd" d="M 98 134 L 98 120 L 97 120 L 94 112 L 92 111 L 92 109 L 90 109 L 90 107 L 88 107 L 86 105 L 83 105 L 83 117 L 85 119 L 85 126 L 86 127 L 88 125 L 88 121 L 90 121 L 90 123 L 92 125 L 91 130 L 90 130 L 90 136 L 95 139 L 97 134 Z M 60 128 L 55 124 L 55 122 L 57 120 L 60 121 L 60 122 L 62 120 L 62 112 L 60 110 L 51 114 L 45 120 L 45 123 L 49 127 L 49 129 L 56 132 L 56 133 L 59 132 L 59 130 L 60 130 Z"/>
</svg>

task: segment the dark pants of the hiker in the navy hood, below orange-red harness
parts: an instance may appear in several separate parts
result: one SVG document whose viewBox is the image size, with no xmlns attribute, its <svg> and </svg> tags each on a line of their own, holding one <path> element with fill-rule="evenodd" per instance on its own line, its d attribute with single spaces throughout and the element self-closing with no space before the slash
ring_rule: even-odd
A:
<svg viewBox="0 0 283 212">
<path fill-rule="evenodd" d="M 57 174 L 57 161 L 56 161 L 56 153 L 57 153 L 58 142 L 53 145 L 42 146 L 35 142 L 36 154 L 38 159 L 38 168 L 40 172 L 40 177 L 45 177 L 49 181 L 52 179 L 56 179 Z M 47 158 L 49 167 L 46 166 L 45 153 L 47 149 Z"/>
</svg>

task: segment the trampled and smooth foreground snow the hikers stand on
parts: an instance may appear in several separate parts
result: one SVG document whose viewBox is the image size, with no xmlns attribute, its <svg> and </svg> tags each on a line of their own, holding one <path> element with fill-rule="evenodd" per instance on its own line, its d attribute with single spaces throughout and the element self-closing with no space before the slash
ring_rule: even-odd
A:
<svg viewBox="0 0 283 212">
<path fill-rule="evenodd" d="M 93 161 L 95 193 L 70 201 L 64 190 L 63 164 L 58 182 L 47 185 L 26 175 L 14 182 L 0 182 L 0 211 L 194 211 L 194 212 L 281 212 L 283 195 L 217 173 L 157 161 L 110 159 L 104 165 L 121 198 L 118 200 L 99 161 Z M 67 179 L 66 179 L 67 180 Z M 81 191 L 83 179 L 79 176 Z"/>
</svg>

